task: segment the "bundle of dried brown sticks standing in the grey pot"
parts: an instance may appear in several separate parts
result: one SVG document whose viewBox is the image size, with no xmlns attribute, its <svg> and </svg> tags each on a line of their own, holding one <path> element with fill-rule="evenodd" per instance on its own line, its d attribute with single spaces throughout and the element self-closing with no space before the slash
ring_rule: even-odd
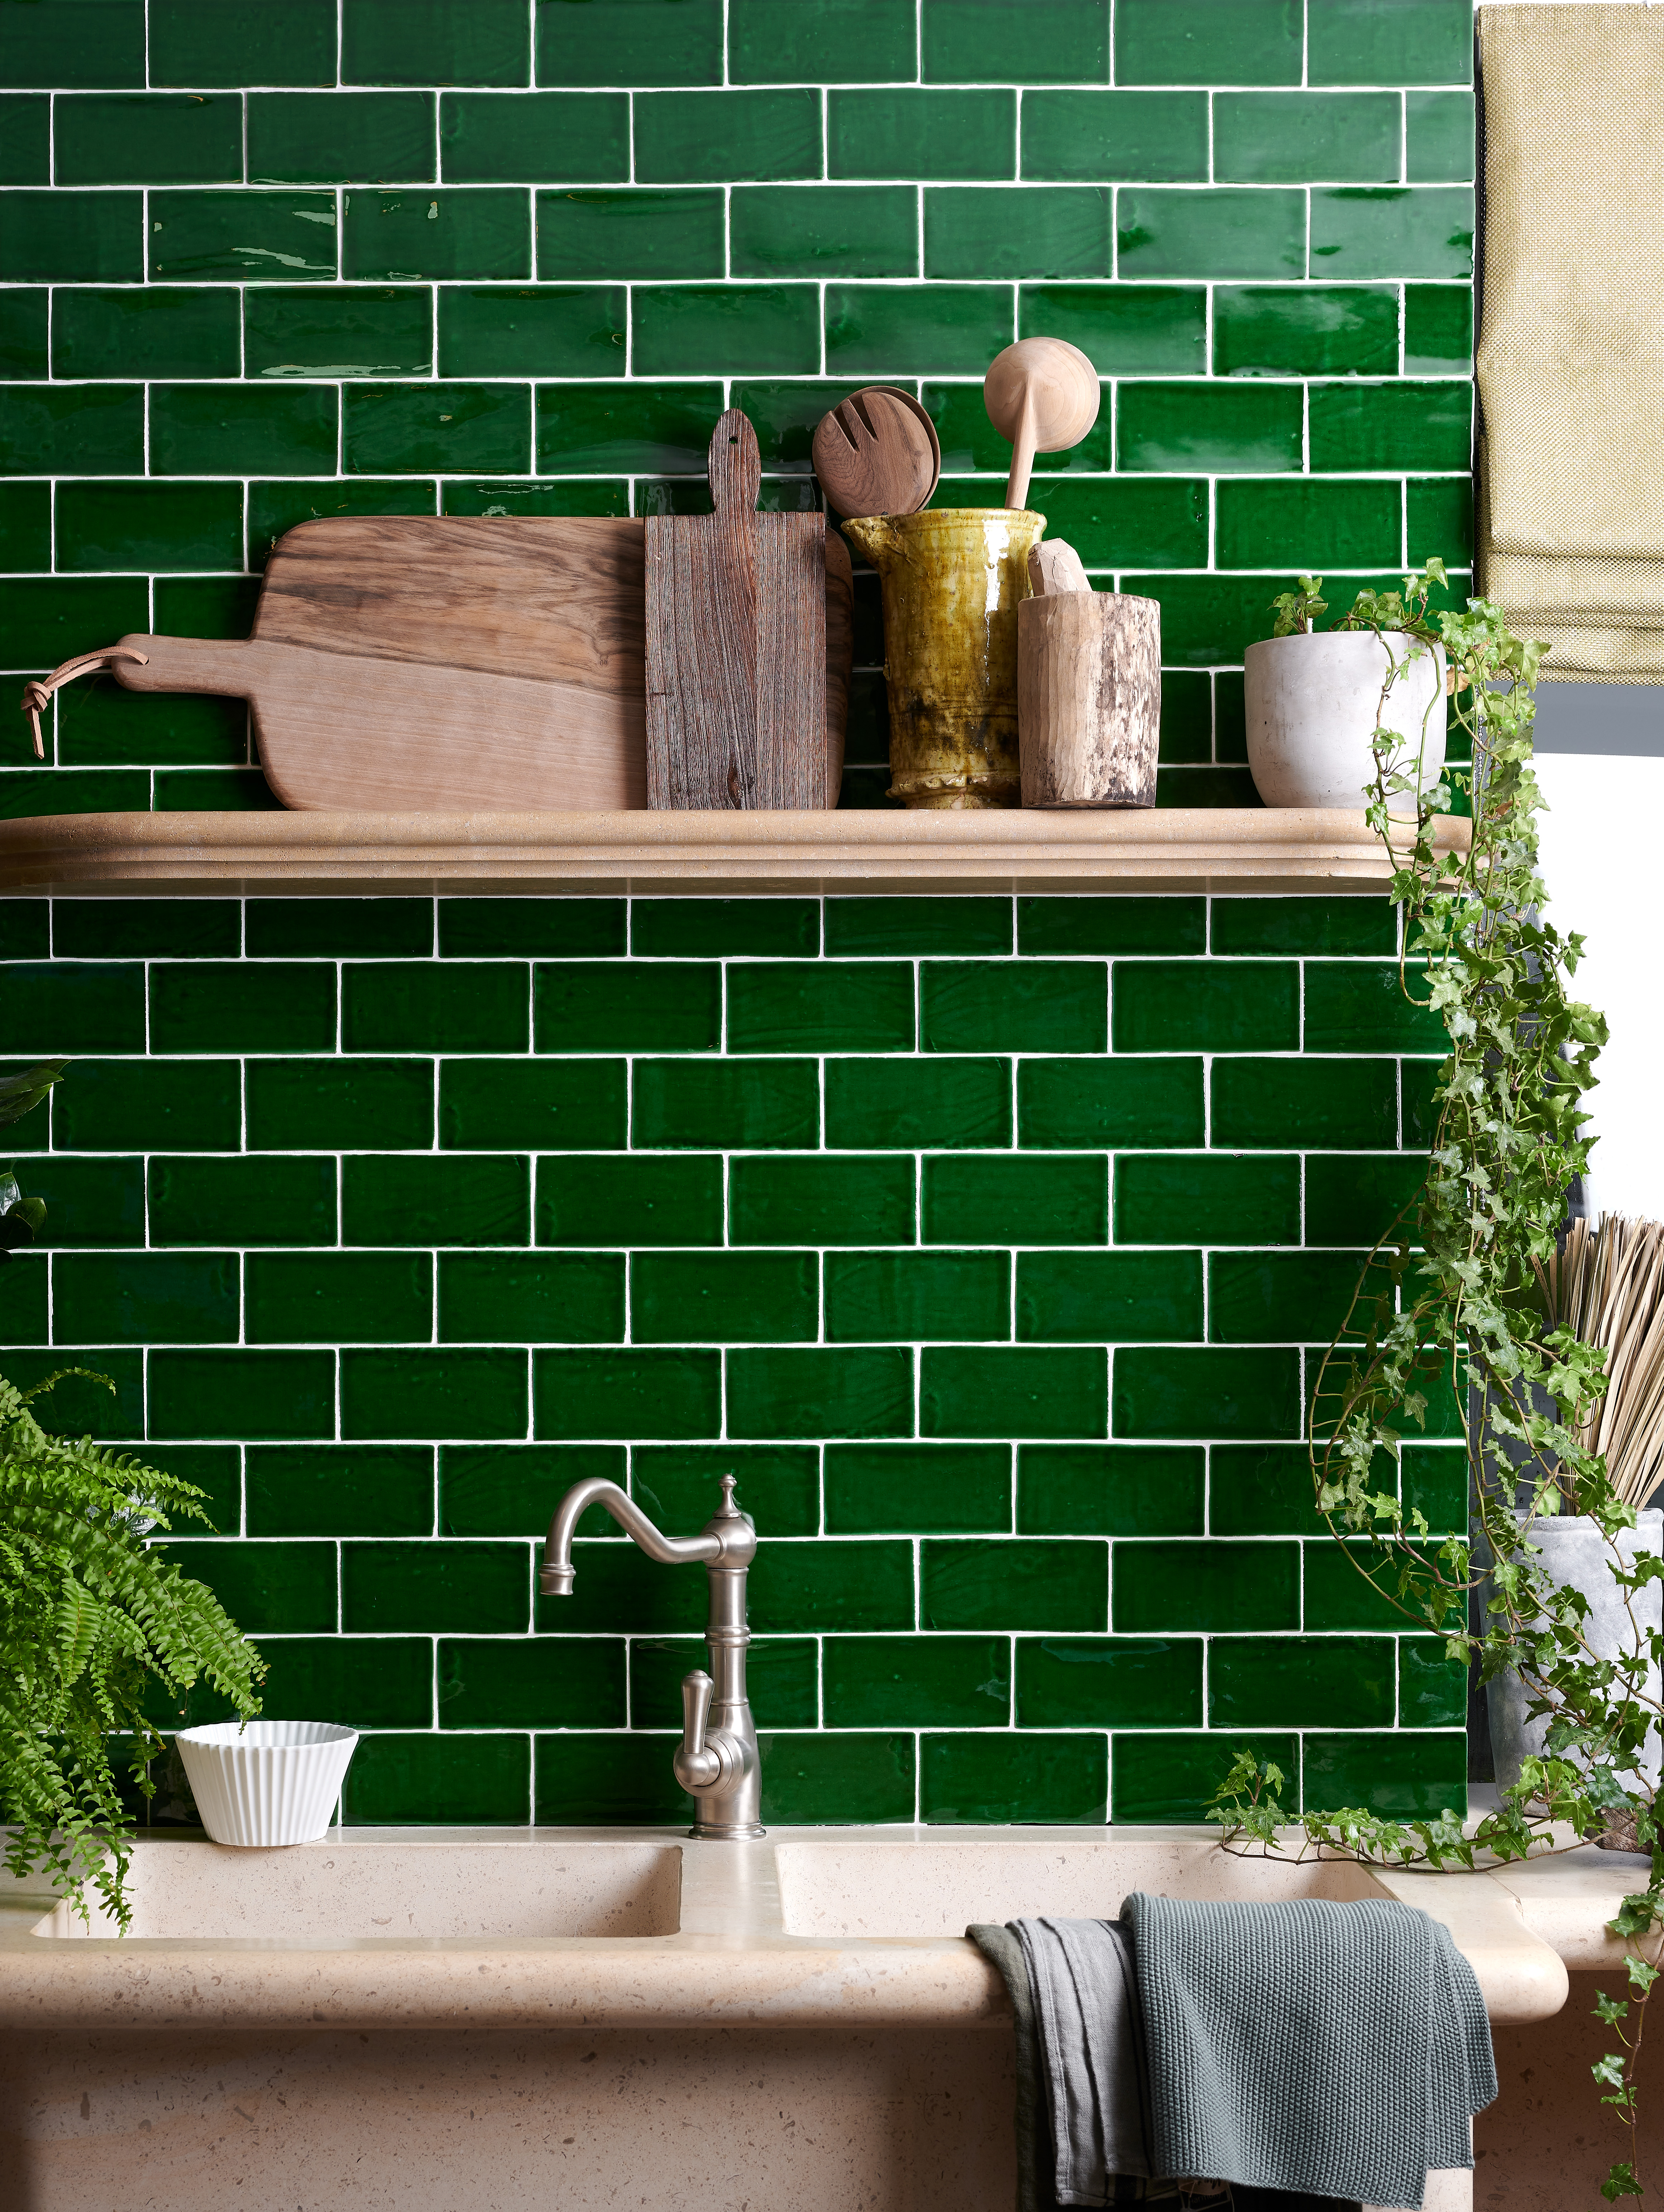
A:
<svg viewBox="0 0 1664 2212">
<path fill-rule="evenodd" d="M 1664 1221 L 1573 1221 L 1538 1274 L 1551 1321 L 1606 1354 L 1606 1391 L 1578 1440 L 1604 1451 L 1611 1486 L 1644 1506 L 1664 1482 Z"/>
</svg>

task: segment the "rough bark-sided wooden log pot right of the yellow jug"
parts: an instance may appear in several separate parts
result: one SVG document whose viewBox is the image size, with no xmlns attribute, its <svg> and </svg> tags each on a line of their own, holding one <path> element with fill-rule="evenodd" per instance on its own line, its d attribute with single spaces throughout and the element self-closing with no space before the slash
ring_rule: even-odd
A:
<svg viewBox="0 0 1664 2212">
<path fill-rule="evenodd" d="M 1025 807 L 1153 807 L 1162 608 L 1067 591 L 1018 606 Z"/>
</svg>

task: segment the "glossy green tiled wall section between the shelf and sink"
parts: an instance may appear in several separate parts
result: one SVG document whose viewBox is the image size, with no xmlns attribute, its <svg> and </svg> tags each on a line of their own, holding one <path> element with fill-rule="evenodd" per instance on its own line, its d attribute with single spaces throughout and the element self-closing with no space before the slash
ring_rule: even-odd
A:
<svg viewBox="0 0 1664 2212">
<path fill-rule="evenodd" d="M 1193 1818 L 1241 1741 L 1460 1794 L 1460 1670 L 1297 1442 L 1421 1175 L 1383 900 L 66 898 L 0 945 L 0 1060 L 86 1055 L 15 1130 L 0 1369 L 100 1367 L 62 1420 L 201 1482 L 177 1555 L 272 1701 L 370 1732 L 352 1820 L 679 1816 L 704 1577 L 595 1515 L 533 1595 L 595 1473 L 673 1533 L 737 1478 L 774 1820 Z M 1438 1526 L 1463 1464 L 1407 1455 Z"/>
</svg>

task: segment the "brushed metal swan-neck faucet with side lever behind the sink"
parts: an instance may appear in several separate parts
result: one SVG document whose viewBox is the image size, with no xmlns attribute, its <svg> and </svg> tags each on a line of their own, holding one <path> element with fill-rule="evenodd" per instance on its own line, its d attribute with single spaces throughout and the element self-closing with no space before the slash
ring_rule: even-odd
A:
<svg viewBox="0 0 1664 2212">
<path fill-rule="evenodd" d="M 761 1836 L 763 1774 L 757 1723 L 746 1697 L 746 1568 L 757 1557 L 757 1528 L 735 1504 L 735 1478 L 721 1478 L 721 1504 L 699 1535 L 662 1535 L 617 1482 L 593 1475 L 573 1482 L 549 1522 L 538 1588 L 544 1597 L 573 1593 L 573 1528 L 589 1506 L 604 1506 L 633 1542 L 659 1566 L 706 1562 L 710 1577 L 710 1674 L 682 1677 L 682 1743 L 670 1761 L 675 1778 L 695 1803 L 693 1836 Z M 715 1681 L 713 1681 L 715 1674 Z"/>
</svg>

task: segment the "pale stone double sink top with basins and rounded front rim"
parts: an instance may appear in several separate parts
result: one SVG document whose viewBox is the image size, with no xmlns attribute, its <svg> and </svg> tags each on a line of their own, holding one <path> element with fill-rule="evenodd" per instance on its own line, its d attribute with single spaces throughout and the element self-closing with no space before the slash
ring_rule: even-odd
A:
<svg viewBox="0 0 1664 2212">
<path fill-rule="evenodd" d="M 1109 1916 L 1131 1889 L 1398 1896 L 1445 1920 L 1494 2022 L 1545 2020 L 1567 2000 L 1567 1964 L 1609 1955 L 1600 1918 L 1626 1882 L 1613 1869 L 1600 1887 L 1589 1856 L 1611 1854 L 1374 1876 L 1348 1860 L 1239 1858 L 1204 1827 L 814 1827 L 759 1843 L 639 1827 L 336 1829 L 285 1851 L 142 1840 L 126 1938 L 97 1922 L 84 1933 L 40 1880 L 0 1887 L 0 2026 L 1005 2033 L 1005 1991 L 963 1927 Z M 403 1933 L 356 1931 L 398 1918 L 376 1909 L 378 1880 L 409 1907 Z M 321 1907 L 325 1891 L 334 1902 Z M 522 1933 L 540 1918 L 606 1931 Z"/>
</svg>

